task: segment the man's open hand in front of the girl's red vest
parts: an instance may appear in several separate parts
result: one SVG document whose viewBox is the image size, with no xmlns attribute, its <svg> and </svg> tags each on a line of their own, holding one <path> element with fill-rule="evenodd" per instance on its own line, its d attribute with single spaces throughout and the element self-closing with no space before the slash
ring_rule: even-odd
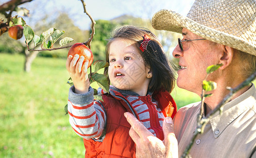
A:
<svg viewBox="0 0 256 158">
<path fill-rule="evenodd" d="M 131 113 L 126 112 L 124 116 L 131 124 L 129 134 L 136 144 L 136 157 L 178 157 L 178 142 L 174 134 L 171 117 L 164 119 L 164 140 L 161 141 L 147 130 Z"/>
</svg>

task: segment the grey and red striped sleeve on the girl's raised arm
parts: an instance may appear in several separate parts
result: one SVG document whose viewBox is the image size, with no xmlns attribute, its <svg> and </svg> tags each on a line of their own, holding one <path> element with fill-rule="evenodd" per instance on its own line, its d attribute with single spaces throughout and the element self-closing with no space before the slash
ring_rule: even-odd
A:
<svg viewBox="0 0 256 158">
<path fill-rule="evenodd" d="M 100 103 L 93 97 L 93 88 L 85 94 L 74 93 L 74 86 L 68 93 L 67 110 L 70 124 L 75 133 L 84 139 L 101 136 L 106 123 L 106 115 Z"/>
</svg>

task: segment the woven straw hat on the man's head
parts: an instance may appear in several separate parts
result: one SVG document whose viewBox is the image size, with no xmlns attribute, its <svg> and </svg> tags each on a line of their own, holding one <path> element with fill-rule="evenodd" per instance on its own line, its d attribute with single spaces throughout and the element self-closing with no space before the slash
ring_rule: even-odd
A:
<svg viewBox="0 0 256 158">
<path fill-rule="evenodd" d="M 152 17 L 152 26 L 177 33 L 184 27 L 206 40 L 256 55 L 255 0 L 195 0 L 187 17 L 162 9 Z"/>
</svg>

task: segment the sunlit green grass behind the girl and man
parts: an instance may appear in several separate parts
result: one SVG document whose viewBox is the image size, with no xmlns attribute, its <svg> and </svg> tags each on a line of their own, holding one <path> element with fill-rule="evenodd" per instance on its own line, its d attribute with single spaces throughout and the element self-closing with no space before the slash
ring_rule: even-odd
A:
<svg viewBox="0 0 256 158">
<path fill-rule="evenodd" d="M 30 73 L 24 60 L 0 53 L 0 157 L 84 157 L 83 140 L 64 115 L 66 60 L 37 57 Z M 172 96 L 179 108 L 200 101 L 178 87 Z"/>
</svg>

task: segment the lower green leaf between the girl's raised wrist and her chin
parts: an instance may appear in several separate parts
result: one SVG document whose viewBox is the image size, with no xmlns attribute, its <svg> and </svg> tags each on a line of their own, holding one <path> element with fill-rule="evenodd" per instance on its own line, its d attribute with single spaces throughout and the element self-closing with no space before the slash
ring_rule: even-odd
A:
<svg viewBox="0 0 256 158">
<path fill-rule="evenodd" d="M 107 80 L 107 76 L 103 74 L 94 73 L 91 75 L 92 80 L 97 82 L 97 84 L 107 93 L 109 93 L 110 85 L 109 81 Z"/>
</svg>

